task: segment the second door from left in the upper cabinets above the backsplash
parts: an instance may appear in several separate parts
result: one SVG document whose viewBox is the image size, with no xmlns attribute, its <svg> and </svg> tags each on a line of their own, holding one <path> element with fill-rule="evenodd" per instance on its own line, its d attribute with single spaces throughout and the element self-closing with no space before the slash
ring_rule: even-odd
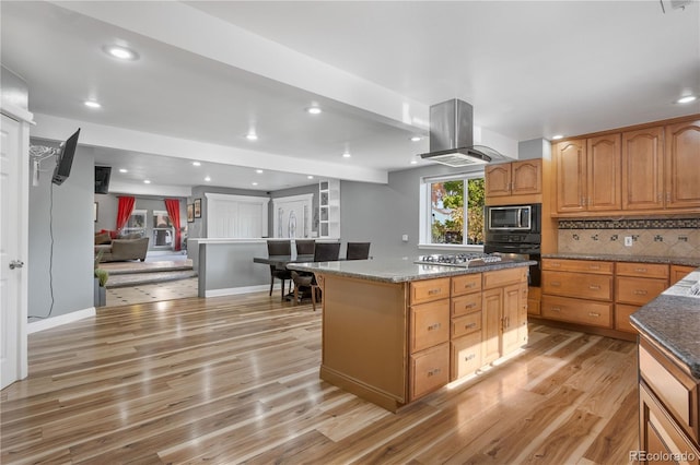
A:
<svg viewBox="0 0 700 465">
<path fill-rule="evenodd" d="M 590 212 L 620 210 L 621 134 L 608 134 L 587 141 L 587 196 Z"/>
</svg>

